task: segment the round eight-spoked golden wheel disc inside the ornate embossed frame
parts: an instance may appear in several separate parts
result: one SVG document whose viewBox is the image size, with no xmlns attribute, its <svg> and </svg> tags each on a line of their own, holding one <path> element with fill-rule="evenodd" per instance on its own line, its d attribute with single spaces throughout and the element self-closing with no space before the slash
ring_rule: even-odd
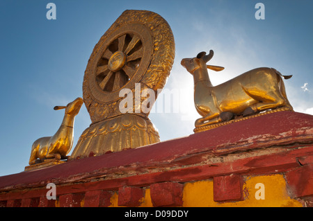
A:
<svg viewBox="0 0 313 221">
<path fill-rule="evenodd" d="M 131 89 L 140 82 L 152 58 L 152 35 L 143 24 L 132 23 L 100 42 L 88 80 L 91 94 L 99 102 L 109 103 L 120 98 L 120 89 Z"/>
</svg>

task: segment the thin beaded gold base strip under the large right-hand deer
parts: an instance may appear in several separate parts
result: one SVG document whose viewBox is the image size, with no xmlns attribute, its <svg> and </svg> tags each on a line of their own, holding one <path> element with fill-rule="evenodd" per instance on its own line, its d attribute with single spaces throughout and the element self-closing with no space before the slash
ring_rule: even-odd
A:
<svg viewBox="0 0 313 221">
<path fill-rule="evenodd" d="M 275 112 L 284 112 L 284 111 L 292 111 L 292 110 L 291 110 L 290 107 L 280 107 L 278 109 L 271 109 L 271 110 L 268 110 L 266 112 L 262 112 L 262 113 L 251 115 L 251 116 L 235 118 L 234 120 L 231 120 L 231 121 L 226 121 L 226 122 L 222 122 L 222 123 L 215 123 L 215 124 L 212 124 L 212 125 L 206 125 L 206 126 L 202 126 L 202 127 L 195 127 L 195 129 L 193 129 L 193 132 L 195 132 L 195 133 L 203 132 L 203 131 L 211 130 L 211 129 L 214 129 L 216 127 L 220 127 L 220 126 L 223 126 L 223 125 L 228 125 L 228 124 L 231 124 L 231 123 L 244 121 L 244 120 L 247 120 L 247 119 L 250 119 L 250 118 L 255 118 L 257 116 L 263 116 L 263 115 L 266 115 L 266 114 L 272 114 L 272 113 L 275 113 Z"/>
</svg>

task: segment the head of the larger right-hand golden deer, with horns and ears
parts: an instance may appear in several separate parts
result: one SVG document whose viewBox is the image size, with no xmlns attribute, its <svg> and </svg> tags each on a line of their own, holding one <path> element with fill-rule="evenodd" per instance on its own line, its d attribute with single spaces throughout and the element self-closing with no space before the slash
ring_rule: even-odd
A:
<svg viewBox="0 0 313 221">
<path fill-rule="evenodd" d="M 210 50 L 209 54 L 206 55 L 205 51 L 198 53 L 195 58 L 184 58 L 180 64 L 193 75 L 197 69 L 211 69 L 213 71 L 222 71 L 224 68 L 214 65 L 207 65 L 207 62 L 213 58 L 214 51 Z"/>
</svg>

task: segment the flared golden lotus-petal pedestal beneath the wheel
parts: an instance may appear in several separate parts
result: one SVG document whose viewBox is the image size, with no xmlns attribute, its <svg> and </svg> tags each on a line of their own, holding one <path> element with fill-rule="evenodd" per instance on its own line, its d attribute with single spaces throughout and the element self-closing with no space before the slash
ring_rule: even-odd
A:
<svg viewBox="0 0 313 221">
<path fill-rule="evenodd" d="M 99 156 L 159 141 L 159 133 L 149 118 L 122 114 L 90 125 L 79 137 L 71 158 Z"/>
</svg>

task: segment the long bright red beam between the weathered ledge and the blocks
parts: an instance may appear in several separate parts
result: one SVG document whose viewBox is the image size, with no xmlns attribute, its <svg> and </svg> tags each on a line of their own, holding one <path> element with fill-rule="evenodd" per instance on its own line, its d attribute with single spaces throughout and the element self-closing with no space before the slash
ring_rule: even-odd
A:
<svg viewBox="0 0 313 221">
<path fill-rule="evenodd" d="M 209 179 L 211 177 L 240 173 L 242 175 L 257 175 L 280 173 L 300 167 L 297 158 L 312 154 L 313 146 L 296 150 L 289 150 L 277 154 L 269 154 L 247 159 L 238 159 L 229 163 L 214 163 L 213 165 L 193 166 L 176 170 L 168 170 L 151 174 L 136 175 L 131 177 L 108 179 L 83 184 L 58 186 L 57 194 L 81 193 L 94 190 L 117 191 L 122 186 L 150 186 L 156 182 L 188 182 L 193 180 Z M 252 161 L 252 163 L 250 163 Z M 0 194 L 0 200 L 21 199 L 24 197 L 45 196 L 47 189 L 39 188 L 33 191 L 19 191 Z"/>
</svg>

